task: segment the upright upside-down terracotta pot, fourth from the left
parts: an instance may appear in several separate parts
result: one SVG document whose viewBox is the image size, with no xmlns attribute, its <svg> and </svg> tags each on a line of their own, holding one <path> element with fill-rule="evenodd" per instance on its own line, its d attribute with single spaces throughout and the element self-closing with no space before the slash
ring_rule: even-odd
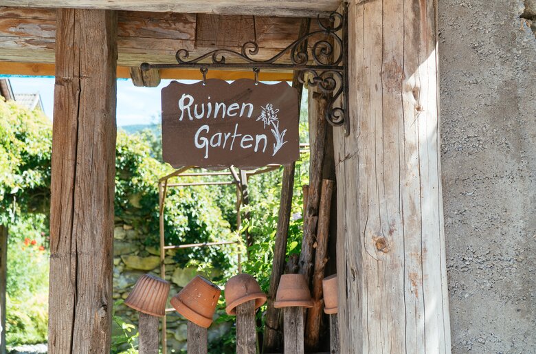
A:
<svg viewBox="0 0 536 354">
<path fill-rule="evenodd" d="M 276 309 L 281 307 L 313 307 L 311 292 L 303 274 L 284 274 L 279 282 L 276 302 L 273 303 Z"/>
</svg>

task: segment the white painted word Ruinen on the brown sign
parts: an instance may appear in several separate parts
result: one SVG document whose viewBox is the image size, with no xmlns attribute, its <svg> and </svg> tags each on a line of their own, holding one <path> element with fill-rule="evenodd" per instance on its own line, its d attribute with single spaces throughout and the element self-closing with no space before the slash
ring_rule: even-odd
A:
<svg viewBox="0 0 536 354">
<path fill-rule="evenodd" d="M 208 97 L 210 100 L 210 96 Z M 205 112 L 206 108 L 206 112 Z M 179 100 L 179 109 L 181 111 L 179 115 L 179 120 L 183 120 L 185 116 L 189 120 L 202 119 L 202 118 L 221 118 L 227 117 L 243 117 L 245 111 L 247 110 L 247 118 L 252 118 L 253 114 L 253 104 L 252 103 L 243 103 L 242 107 L 238 103 L 232 103 L 227 106 L 223 102 L 214 102 L 214 107 L 212 107 L 212 102 L 201 104 L 194 104 L 194 98 L 188 93 L 183 93 L 181 99 Z M 240 113 L 238 113 L 240 111 Z M 193 114 L 192 114 L 193 113 Z"/>
</svg>

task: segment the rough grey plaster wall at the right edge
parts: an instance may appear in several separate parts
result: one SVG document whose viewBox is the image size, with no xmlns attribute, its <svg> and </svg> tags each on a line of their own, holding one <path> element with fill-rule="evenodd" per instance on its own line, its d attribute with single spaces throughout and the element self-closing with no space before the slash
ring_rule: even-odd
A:
<svg viewBox="0 0 536 354">
<path fill-rule="evenodd" d="M 453 353 L 536 353 L 535 3 L 438 1 Z"/>
</svg>

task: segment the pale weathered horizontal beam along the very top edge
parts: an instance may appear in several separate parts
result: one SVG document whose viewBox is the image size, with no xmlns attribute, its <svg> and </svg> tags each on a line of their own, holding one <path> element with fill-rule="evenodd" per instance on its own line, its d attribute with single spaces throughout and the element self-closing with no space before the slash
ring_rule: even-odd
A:
<svg viewBox="0 0 536 354">
<path fill-rule="evenodd" d="M 326 16 L 340 0 L 0 0 L 0 5 L 29 8 L 86 8 L 152 12 L 205 14 L 245 14 L 261 16 Z"/>
</svg>

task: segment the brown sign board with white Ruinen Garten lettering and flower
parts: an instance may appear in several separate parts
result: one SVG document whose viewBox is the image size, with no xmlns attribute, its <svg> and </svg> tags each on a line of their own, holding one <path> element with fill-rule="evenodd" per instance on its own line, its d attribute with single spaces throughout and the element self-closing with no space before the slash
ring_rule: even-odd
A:
<svg viewBox="0 0 536 354">
<path fill-rule="evenodd" d="M 162 156 L 175 168 L 257 168 L 299 158 L 298 91 L 287 82 L 172 81 L 161 98 Z"/>
</svg>

